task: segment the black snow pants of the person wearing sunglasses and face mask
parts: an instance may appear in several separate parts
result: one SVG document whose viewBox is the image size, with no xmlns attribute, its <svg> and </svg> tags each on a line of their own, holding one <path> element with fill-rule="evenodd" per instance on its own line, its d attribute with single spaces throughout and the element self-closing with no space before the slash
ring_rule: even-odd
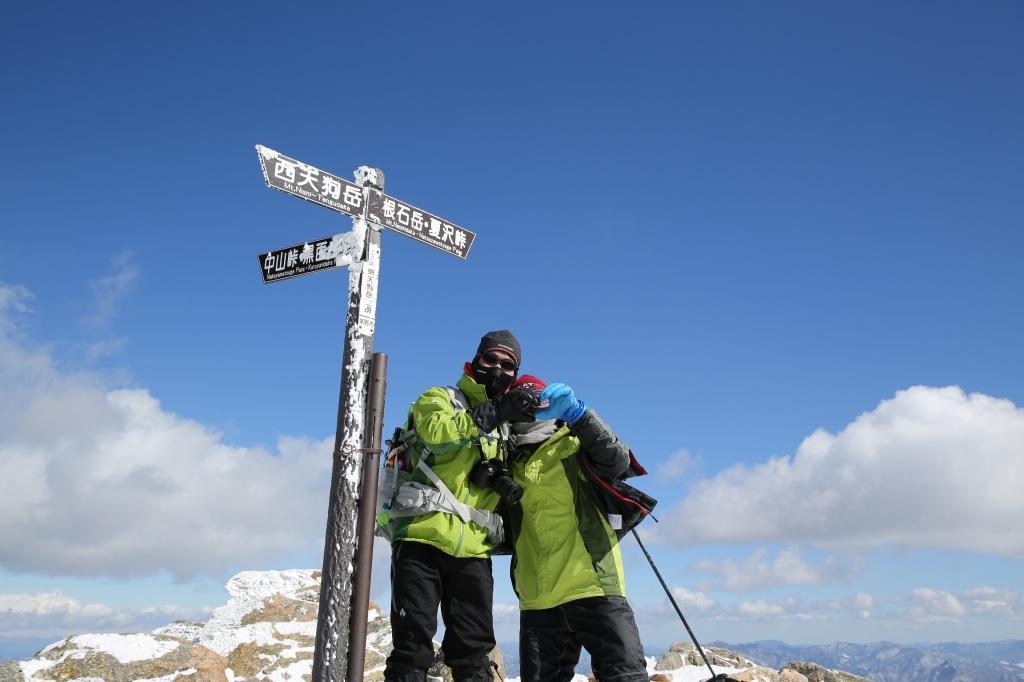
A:
<svg viewBox="0 0 1024 682">
<path fill-rule="evenodd" d="M 434 663 L 437 606 L 444 620 L 444 663 L 455 682 L 490 682 L 495 648 L 490 615 L 495 581 L 490 559 L 459 559 L 432 545 L 397 542 L 391 548 L 391 635 L 386 682 L 424 682 Z"/>
</svg>

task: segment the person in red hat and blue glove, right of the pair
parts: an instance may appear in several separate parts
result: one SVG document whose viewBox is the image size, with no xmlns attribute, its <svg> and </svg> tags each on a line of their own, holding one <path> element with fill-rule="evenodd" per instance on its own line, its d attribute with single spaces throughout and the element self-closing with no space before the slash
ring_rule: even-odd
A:
<svg viewBox="0 0 1024 682">
<path fill-rule="evenodd" d="M 647 682 L 618 541 L 582 471 L 616 478 L 630 449 L 565 384 L 523 375 L 519 388 L 543 408 L 511 425 L 509 469 L 524 492 L 511 508 L 522 682 L 568 682 L 584 647 L 599 682 Z"/>
</svg>

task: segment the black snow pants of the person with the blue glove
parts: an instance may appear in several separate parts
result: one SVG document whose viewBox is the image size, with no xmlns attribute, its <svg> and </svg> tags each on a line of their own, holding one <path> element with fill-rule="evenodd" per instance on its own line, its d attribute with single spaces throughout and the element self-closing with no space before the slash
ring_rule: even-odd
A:
<svg viewBox="0 0 1024 682">
<path fill-rule="evenodd" d="M 568 682 L 590 652 L 598 682 L 647 682 L 647 660 L 633 609 L 623 597 L 585 597 L 519 612 L 522 682 Z"/>
</svg>

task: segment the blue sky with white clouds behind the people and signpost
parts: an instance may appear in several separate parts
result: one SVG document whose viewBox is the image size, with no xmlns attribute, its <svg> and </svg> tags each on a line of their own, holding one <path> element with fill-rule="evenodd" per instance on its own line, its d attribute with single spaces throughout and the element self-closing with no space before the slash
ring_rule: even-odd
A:
<svg viewBox="0 0 1024 682">
<path fill-rule="evenodd" d="M 388 428 L 513 330 L 654 474 L 702 638 L 1024 638 L 1022 31 L 1010 2 L 3 6 L 0 635 L 317 565 L 347 279 L 255 256 L 349 220 L 266 188 L 260 143 L 478 235 L 384 236 Z M 626 558 L 645 642 L 683 639 Z"/>
</svg>

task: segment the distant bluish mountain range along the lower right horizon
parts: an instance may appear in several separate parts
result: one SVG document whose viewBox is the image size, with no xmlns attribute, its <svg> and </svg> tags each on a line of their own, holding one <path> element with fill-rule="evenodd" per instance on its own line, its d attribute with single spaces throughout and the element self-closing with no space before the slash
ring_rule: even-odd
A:
<svg viewBox="0 0 1024 682">
<path fill-rule="evenodd" d="M 1024 682 L 1024 640 L 983 644 L 893 644 L 837 642 L 790 646 L 785 642 L 749 644 L 712 642 L 738 651 L 762 666 L 780 668 L 791 660 L 849 671 L 874 682 Z"/>
</svg>

